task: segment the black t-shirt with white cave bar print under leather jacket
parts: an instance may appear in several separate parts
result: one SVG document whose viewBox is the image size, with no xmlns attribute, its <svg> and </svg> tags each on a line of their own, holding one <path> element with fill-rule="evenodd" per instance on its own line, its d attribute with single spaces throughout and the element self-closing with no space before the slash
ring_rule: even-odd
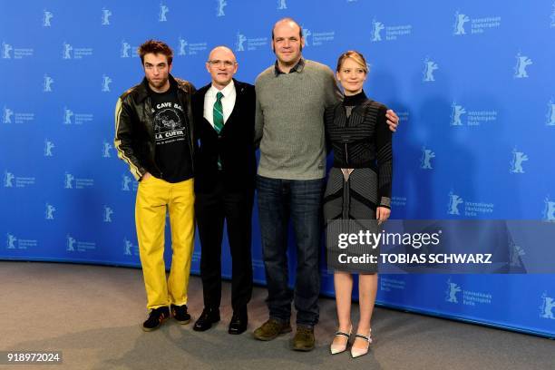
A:
<svg viewBox="0 0 555 370">
<path fill-rule="evenodd" d="M 150 90 L 156 152 L 154 160 L 161 178 L 180 182 L 193 177 L 186 107 L 178 100 L 177 86 L 171 84 L 166 93 Z"/>
</svg>

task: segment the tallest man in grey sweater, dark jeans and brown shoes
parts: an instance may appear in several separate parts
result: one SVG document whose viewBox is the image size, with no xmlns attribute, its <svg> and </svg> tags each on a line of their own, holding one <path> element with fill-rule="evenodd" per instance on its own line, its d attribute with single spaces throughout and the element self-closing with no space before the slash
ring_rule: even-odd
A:
<svg viewBox="0 0 555 370">
<path fill-rule="evenodd" d="M 259 340 L 272 340 L 290 332 L 291 301 L 287 273 L 289 219 L 297 241 L 295 308 L 297 333 L 293 349 L 315 346 L 320 277 L 320 209 L 326 176 L 324 111 L 339 102 L 334 73 L 324 64 L 305 60 L 301 27 L 291 18 L 272 30 L 275 65 L 258 75 L 255 83 L 257 115 L 255 139 L 258 164 L 258 216 L 262 254 L 268 283 L 269 319 L 255 330 Z M 392 131 L 398 122 L 387 113 Z"/>
</svg>

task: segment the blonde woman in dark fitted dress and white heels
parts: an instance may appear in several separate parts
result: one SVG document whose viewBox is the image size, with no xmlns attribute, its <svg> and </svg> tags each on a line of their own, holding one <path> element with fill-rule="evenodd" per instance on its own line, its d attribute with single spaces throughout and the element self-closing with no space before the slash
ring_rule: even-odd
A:
<svg viewBox="0 0 555 370">
<path fill-rule="evenodd" d="M 334 150 L 324 199 L 326 223 L 337 219 L 389 218 L 393 173 L 392 132 L 385 122 L 387 108 L 368 99 L 363 84 L 368 73 L 365 58 L 355 51 L 339 57 L 336 77 L 343 86 L 343 102 L 326 110 L 326 134 Z M 330 246 L 328 246 L 330 248 Z M 338 331 L 330 347 L 336 354 L 346 350 L 352 332 L 351 300 L 353 269 L 334 272 Z M 360 319 L 351 355 L 368 352 L 372 311 L 377 291 L 377 274 L 359 273 Z"/>
</svg>

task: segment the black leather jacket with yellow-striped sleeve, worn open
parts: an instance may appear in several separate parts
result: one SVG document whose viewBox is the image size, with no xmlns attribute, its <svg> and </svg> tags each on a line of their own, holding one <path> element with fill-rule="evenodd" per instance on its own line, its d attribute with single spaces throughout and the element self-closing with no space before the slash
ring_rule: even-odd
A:
<svg viewBox="0 0 555 370">
<path fill-rule="evenodd" d="M 146 78 L 136 86 L 122 94 L 115 109 L 115 140 L 114 145 L 118 157 L 125 161 L 135 180 L 141 180 L 142 175 L 150 172 L 161 178 L 161 170 L 154 161 L 155 138 L 154 124 L 151 114 L 151 97 L 147 90 Z M 184 80 L 173 78 L 170 83 L 177 83 L 178 99 L 185 110 L 189 129 L 190 163 L 193 161 L 193 120 L 191 111 L 191 96 L 195 87 Z M 194 171 L 194 169 L 193 169 Z"/>
</svg>

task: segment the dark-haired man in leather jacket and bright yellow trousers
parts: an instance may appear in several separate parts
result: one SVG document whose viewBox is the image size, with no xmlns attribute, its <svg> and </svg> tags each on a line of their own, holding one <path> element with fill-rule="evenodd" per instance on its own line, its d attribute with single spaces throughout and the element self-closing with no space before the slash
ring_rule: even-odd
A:
<svg viewBox="0 0 555 370">
<path fill-rule="evenodd" d="M 190 322 L 187 287 L 194 243 L 191 83 L 171 76 L 173 52 L 149 40 L 139 47 L 145 77 L 116 104 L 115 147 L 139 180 L 135 223 L 149 317 L 144 331 L 173 316 Z M 164 264 L 164 226 L 170 213 L 170 277 Z"/>
</svg>

